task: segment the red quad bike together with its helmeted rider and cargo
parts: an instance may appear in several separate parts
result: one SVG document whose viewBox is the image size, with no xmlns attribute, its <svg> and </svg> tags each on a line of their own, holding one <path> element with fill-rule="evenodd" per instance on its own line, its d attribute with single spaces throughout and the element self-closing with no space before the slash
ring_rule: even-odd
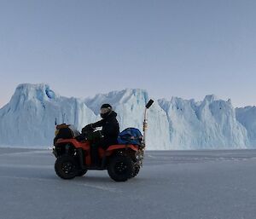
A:
<svg viewBox="0 0 256 219">
<path fill-rule="evenodd" d="M 117 114 L 108 104 L 102 105 L 102 120 L 86 125 L 82 135 L 72 125 L 57 125 L 53 148 L 57 176 L 73 179 L 84 176 L 87 170 L 108 170 L 108 175 L 116 182 L 137 176 L 143 164 L 146 112 L 153 102 L 148 101 L 145 108 L 144 135 L 134 128 L 119 134 Z M 102 130 L 96 130 L 97 127 Z"/>
</svg>

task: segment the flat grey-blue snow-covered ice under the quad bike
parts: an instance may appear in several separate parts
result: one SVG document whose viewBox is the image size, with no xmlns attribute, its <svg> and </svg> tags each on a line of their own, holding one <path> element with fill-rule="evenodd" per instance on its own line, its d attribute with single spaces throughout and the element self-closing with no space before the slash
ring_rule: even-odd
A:
<svg viewBox="0 0 256 219">
<path fill-rule="evenodd" d="M 55 176 L 46 150 L 0 148 L 2 219 L 254 219 L 256 151 L 148 152 L 139 175 Z"/>
</svg>

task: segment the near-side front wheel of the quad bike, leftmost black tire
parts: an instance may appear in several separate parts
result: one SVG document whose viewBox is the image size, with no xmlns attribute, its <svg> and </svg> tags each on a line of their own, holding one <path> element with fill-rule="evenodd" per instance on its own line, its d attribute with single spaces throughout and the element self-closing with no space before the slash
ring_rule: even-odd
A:
<svg viewBox="0 0 256 219">
<path fill-rule="evenodd" d="M 64 180 L 73 179 L 78 175 L 78 163 L 69 155 L 63 155 L 55 161 L 55 172 Z"/>
</svg>

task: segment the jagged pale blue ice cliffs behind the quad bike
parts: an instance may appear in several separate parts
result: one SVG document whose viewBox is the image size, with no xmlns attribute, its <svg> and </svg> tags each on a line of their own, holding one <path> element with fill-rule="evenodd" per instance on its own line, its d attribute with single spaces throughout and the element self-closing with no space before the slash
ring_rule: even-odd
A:
<svg viewBox="0 0 256 219">
<path fill-rule="evenodd" d="M 50 147 L 58 124 L 79 130 L 100 119 L 99 108 L 110 103 L 121 130 L 142 130 L 149 95 L 143 89 L 124 89 L 84 100 L 55 93 L 47 84 L 20 84 L 0 109 L 0 145 Z M 256 147 L 256 110 L 235 109 L 231 101 L 207 95 L 203 101 L 155 100 L 148 111 L 147 148 L 153 150 Z"/>
</svg>

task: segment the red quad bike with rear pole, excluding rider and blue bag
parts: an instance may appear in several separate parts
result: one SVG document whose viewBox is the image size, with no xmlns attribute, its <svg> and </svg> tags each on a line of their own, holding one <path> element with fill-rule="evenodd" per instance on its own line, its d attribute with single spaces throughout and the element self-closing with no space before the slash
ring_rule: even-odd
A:
<svg viewBox="0 0 256 219">
<path fill-rule="evenodd" d="M 98 166 L 91 164 L 90 139 L 84 138 L 81 141 L 78 138 L 79 131 L 72 125 L 57 125 L 53 148 L 57 176 L 62 179 L 73 179 L 76 176 L 84 176 L 87 170 L 108 170 L 108 175 L 116 182 L 125 182 L 137 176 L 143 165 L 147 109 L 153 102 L 150 100 L 145 106 L 142 144 L 111 145 L 107 150 L 99 147 L 101 164 Z M 101 132 L 98 130 L 95 135 L 101 135 Z"/>
</svg>

